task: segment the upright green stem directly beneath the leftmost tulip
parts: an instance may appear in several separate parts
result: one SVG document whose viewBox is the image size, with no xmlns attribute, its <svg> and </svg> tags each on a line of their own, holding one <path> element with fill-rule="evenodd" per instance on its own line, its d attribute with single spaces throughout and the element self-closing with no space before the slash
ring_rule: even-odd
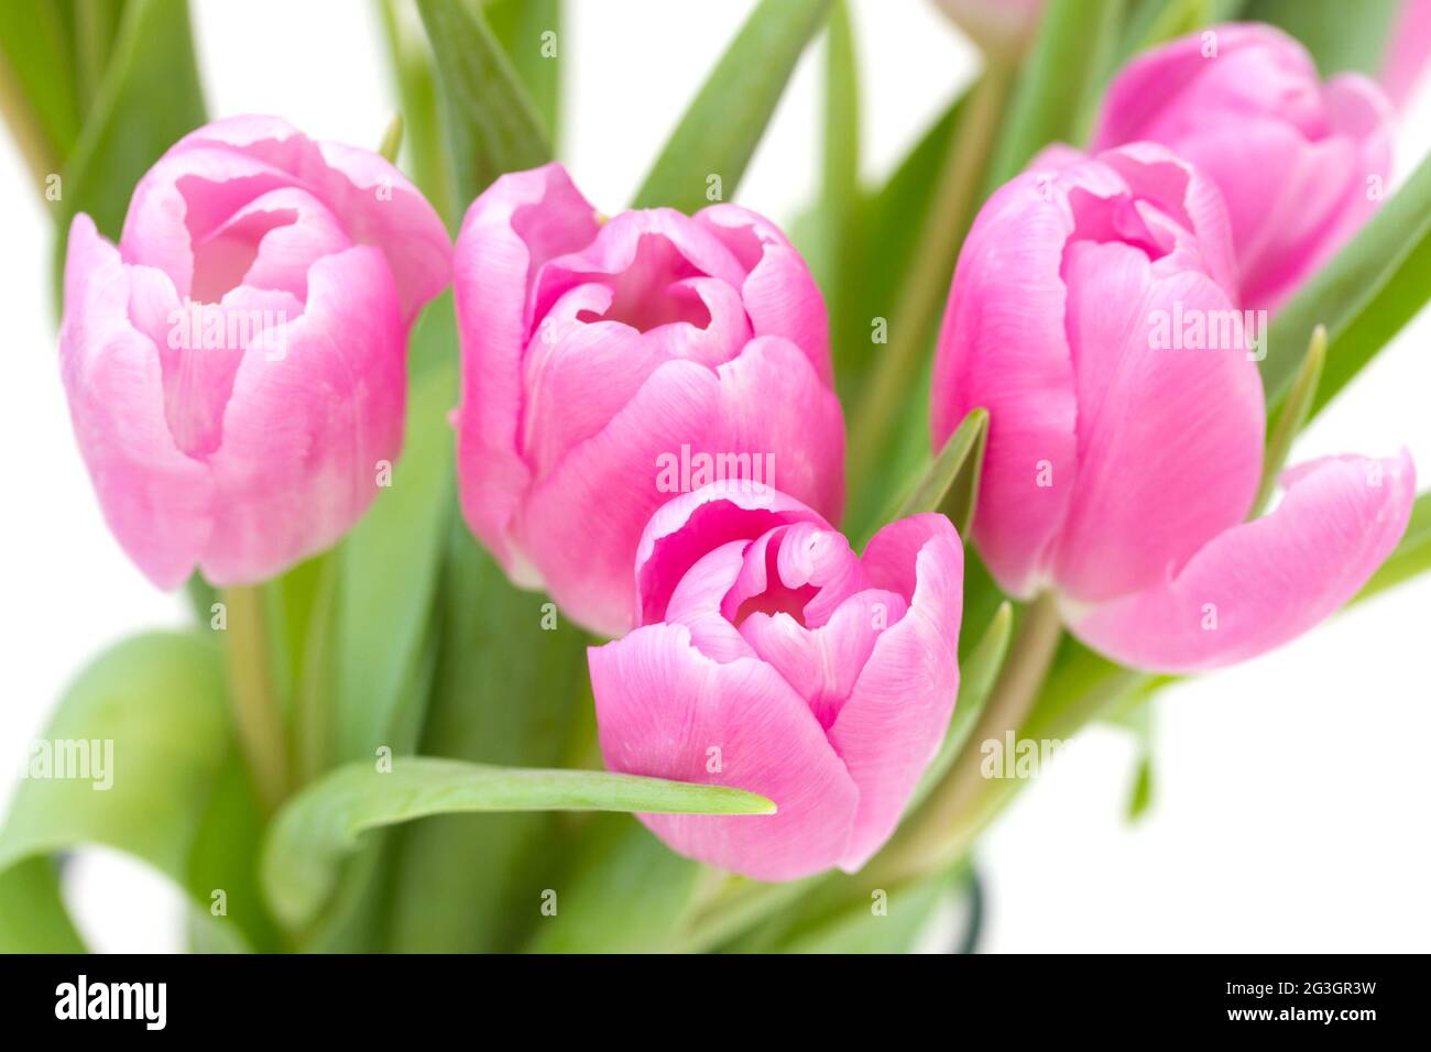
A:
<svg viewBox="0 0 1431 1052">
<path fill-rule="evenodd" d="M 235 729 L 259 797 L 272 810 L 288 796 L 288 743 L 273 690 L 263 588 L 225 588 L 220 601 Z"/>
</svg>

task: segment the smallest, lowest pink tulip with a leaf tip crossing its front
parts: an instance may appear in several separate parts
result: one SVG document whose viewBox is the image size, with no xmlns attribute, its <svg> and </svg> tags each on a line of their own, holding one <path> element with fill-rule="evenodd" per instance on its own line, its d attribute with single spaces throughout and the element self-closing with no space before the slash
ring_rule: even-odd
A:
<svg viewBox="0 0 1431 1052">
<path fill-rule="evenodd" d="M 774 490 L 713 484 L 647 524 L 637 623 L 590 654 L 611 770 L 736 786 L 774 816 L 645 814 L 760 880 L 857 870 L 899 822 L 959 691 L 963 550 L 943 515 L 864 557 Z"/>
</svg>

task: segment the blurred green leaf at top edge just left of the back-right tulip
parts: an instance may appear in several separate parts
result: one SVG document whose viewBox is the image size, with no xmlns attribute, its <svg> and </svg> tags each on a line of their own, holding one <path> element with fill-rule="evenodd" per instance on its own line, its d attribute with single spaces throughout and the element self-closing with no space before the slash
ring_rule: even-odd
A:
<svg viewBox="0 0 1431 1052">
<path fill-rule="evenodd" d="M 1115 53 L 1120 0 L 1050 0 L 1022 66 L 986 193 L 1052 142 L 1079 145 Z"/>
</svg>

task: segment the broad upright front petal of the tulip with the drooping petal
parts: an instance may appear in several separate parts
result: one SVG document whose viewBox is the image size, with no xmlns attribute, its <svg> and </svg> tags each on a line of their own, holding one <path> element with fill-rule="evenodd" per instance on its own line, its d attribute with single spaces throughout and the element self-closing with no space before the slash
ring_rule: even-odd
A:
<svg viewBox="0 0 1431 1052">
<path fill-rule="evenodd" d="M 1052 565 L 1062 591 L 1102 600 L 1156 583 L 1246 517 L 1262 472 L 1262 381 L 1241 312 L 1205 275 L 1162 276 L 1129 245 L 1076 242 L 1065 279 L 1079 469 Z M 1155 345 L 1159 312 L 1169 339 Z M 1183 318 L 1203 322 L 1202 346 L 1175 342 Z"/>
</svg>

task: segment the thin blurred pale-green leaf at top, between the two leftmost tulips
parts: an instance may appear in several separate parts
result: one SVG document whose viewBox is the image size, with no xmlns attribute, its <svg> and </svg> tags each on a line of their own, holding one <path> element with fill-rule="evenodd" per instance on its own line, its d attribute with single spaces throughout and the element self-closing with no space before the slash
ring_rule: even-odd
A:
<svg viewBox="0 0 1431 1052">
<path fill-rule="evenodd" d="M 452 193 L 452 172 L 444 147 L 442 122 L 438 116 L 436 74 L 422 19 L 414 0 L 379 0 L 388 59 L 396 79 L 398 103 L 405 129 L 404 150 L 412 182 L 446 222 L 456 230 L 467 202 Z"/>
</svg>

